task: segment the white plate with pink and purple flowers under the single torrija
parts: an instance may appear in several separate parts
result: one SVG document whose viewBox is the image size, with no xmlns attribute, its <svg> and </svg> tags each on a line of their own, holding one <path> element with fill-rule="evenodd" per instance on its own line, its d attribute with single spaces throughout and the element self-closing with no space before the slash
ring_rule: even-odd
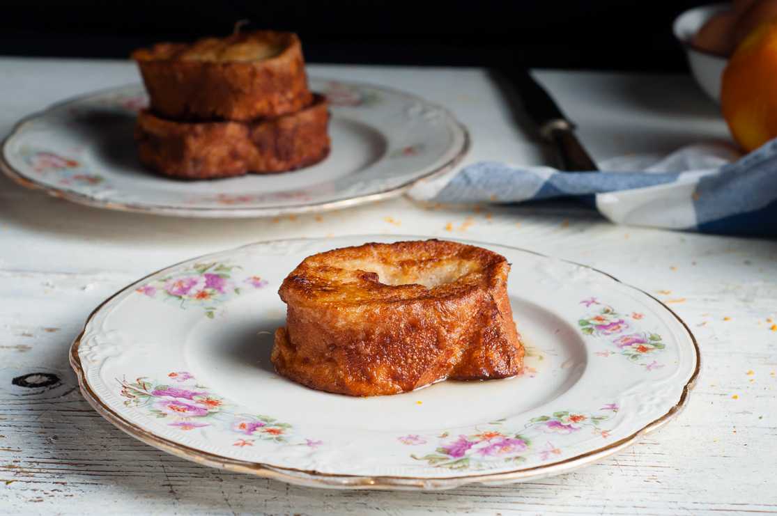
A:
<svg viewBox="0 0 777 516">
<path fill-rule="evenodd" d="M 407 237 L 405 237 L 407 238 Z M 319 487 L 444 489 L 564 473 L 658 428 L 699 371 L 688 327 L 583 265 L 482 244 L 512 264 L 524 373 L 354 398 L 275 374 L 280 282 L 375 235 L 270 241 L 155 272 L 99 306 L 71 348 L 82 393 L 175 455 Z"/>
</svg>

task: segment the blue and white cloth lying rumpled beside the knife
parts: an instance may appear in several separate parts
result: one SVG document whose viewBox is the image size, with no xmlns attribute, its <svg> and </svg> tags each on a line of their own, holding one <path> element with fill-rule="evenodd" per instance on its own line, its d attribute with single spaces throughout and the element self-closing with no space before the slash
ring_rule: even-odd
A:
<svg viewBox="0 0 777 516">
<path fill-rule="evenodd" d="M 777 140 L 744 157 L 732 147 L 703 144 L 665 158 L 615 158 L 599 167 L 570 173 L 481 161 L 416 185 L 410 196 L 440 203 L 593 197 L 614 223 L 777 236 Z"/>
</svg>

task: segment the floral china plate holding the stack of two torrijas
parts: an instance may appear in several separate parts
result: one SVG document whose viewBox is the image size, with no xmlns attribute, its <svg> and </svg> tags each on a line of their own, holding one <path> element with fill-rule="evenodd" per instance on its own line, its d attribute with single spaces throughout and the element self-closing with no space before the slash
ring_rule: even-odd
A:
<svg viewBox="0 0 777 516">
<path fill-rule="evenodd" d="M 442 173 L 469 140 L 454 116 L 416 96 L 378 86 L 312 78 L 330 102 L 332 151 L 298 171 L 182 182 L 145 170 L 134 121 L 142 85 L 96 92 L 24 119 L 0 165 L 22 185 L 89 206 L 190 217 L 279 216 L 397 196 Z"/>
</svg>

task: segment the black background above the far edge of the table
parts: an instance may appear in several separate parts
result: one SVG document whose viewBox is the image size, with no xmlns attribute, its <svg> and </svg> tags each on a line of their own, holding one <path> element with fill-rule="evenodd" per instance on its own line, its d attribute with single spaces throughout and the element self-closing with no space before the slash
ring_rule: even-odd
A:
<svg viewBox="0 0 777 516">
<path fill-rule="evenodd" d="M 310 62 L 679 71 L 671 23 L 709 2 L 0 2 L 0 55 L 126 58 L 160 40 L 293 30 Z"/>
</svg>

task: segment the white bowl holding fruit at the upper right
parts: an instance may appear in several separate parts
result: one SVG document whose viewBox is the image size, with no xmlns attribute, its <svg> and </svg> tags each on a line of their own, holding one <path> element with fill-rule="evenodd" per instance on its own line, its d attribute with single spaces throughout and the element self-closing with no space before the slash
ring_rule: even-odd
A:
<svg viewBox="0 0 777 516">
<path fill-rule="evenodd" d="M 726 57 L 699 50 L 692 44 L 693 36 L 718 12 L 731 9 L 730 3 L 702 5 L 683 12 L 674 20 L 674 36 L 680 40 L 688 56 L 696 82 L 715 102 L 720 102 L 720 78 L 726 68 Z"/>
</svg>

